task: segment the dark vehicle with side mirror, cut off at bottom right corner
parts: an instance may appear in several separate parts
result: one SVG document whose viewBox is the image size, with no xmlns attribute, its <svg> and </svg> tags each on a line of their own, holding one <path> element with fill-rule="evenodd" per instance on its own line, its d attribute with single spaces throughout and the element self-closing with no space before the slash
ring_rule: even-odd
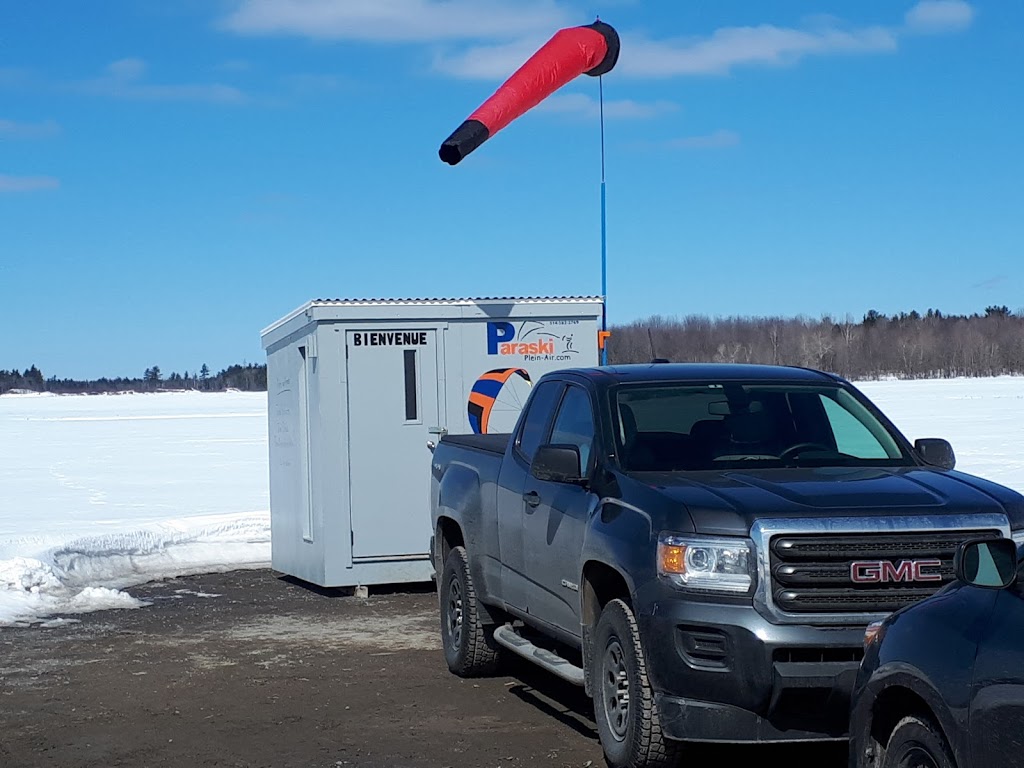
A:
<svg viewBox="0 0 1024 768">
<path fill-rule="evenodd" d="M 974 541 L 957 581 L 868 630 L 853 768 L 1024 768 L 1024 561 Z"/>
</svg>

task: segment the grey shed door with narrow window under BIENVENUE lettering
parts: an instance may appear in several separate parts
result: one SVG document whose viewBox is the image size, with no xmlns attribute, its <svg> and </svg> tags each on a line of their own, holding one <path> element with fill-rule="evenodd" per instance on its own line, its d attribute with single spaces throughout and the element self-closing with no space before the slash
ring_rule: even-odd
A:
<svg viewBox="0 0 1024 768">
<path fill-rule="evenodd" d="M 352 557 L 427 555 L 436 332 L 349 331 L 345 342 Z"/>
</svg>

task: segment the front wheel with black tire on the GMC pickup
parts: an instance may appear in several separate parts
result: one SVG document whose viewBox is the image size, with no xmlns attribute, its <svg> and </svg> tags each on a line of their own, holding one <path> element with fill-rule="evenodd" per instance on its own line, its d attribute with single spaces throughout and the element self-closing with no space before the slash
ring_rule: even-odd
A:
<svg viewBox="0 0 1024 768">
<path fill-rule="evenodd" d="M 680 744 L 662 733 L 636 617 L 622 600 L 609 601 L 601 611 L 590 665 L 594 717 L 608 765 L 676 765 Z M 628 694 L 626 699 L 624 692 Z"/>
</svg>

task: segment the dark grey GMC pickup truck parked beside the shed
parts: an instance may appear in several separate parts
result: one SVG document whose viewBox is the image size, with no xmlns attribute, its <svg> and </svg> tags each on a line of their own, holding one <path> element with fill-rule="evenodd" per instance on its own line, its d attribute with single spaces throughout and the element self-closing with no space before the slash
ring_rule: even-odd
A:
<svg viewBox="0 0 1024 768">
<path fill-rule="evenodd" d="M 959 542 L 1022 541 L 1024 498 L 952 466 L 817 371 L 549 374 L 511 435 L 434 447 L 449 667 L 585 686 L 611 766 L 846 738 L 865 627 L 952 581 Z"/>
</svg>

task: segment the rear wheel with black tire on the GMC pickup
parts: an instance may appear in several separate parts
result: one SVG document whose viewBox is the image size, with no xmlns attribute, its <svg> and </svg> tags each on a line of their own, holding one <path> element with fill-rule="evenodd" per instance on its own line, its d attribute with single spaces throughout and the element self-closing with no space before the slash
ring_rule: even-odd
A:
<svg viewBox="0 0 1024 768">
<path fill-rule="evenodd" d="M 441 644 L 449 669 L 459 677 L 494 674 L 501 660 L 494 627 L 480 622 L 465 547 L 453 547 L 438 589 Z"/>
</svg>

